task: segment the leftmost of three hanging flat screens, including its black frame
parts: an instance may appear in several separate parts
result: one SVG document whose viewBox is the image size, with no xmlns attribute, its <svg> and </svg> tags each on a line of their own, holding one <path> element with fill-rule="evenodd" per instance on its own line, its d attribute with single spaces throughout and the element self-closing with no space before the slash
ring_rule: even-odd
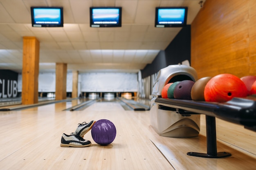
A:
<svg viewBox="0 0 256 170">
<path fill-rule="evenodd" d="M 62 7 L 31 7 L 34 27 L 63 27 Z"/>
</svg>

